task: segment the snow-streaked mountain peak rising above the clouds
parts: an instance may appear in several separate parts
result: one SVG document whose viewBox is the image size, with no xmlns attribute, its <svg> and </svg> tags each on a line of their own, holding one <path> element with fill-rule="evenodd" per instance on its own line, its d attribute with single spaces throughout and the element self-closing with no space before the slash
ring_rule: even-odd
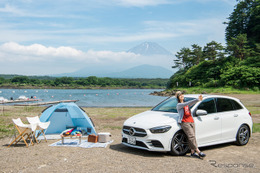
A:
<svg viewBox="0 0 260 173">
<path fill-rule="evenodd" d="M 140 55 L 172 55 L 171 52 L 161 47 L 154 42 L 144 42 L 138 46 L 129 49 L 127 52 L 132 52 Z"/>
</svg>

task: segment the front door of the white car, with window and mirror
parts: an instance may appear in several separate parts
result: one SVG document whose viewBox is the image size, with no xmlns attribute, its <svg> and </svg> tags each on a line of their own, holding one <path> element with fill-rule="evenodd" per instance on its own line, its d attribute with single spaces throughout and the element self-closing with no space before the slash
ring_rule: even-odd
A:
<svg viewBox="0 0 260 173">
<path fill-rule="evenodd" d="M 196 110 L 205 110 L 207 115 L 197 116 Z M 216 110 L 214 98 L 203 100 L 194 112 L 198 145 L 206 145 L 221 139 L 221 118 Z"/>
</svg>

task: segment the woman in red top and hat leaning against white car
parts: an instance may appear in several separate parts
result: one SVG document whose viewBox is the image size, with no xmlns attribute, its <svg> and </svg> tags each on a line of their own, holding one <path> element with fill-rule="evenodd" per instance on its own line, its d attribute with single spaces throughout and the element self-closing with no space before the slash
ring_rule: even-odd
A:
<svg viewBox="0 0 260 173">
<path fill-rule="evenodd" d="M 201 152 L 197 145 L 196 136 L 195 136 L 195 124 L 189 108 L 190 106 L 194 105 L 198 101 L 201 101 L 203 97 L 202 95 L 200 95 L 198 99 L 184 102 L 184 95 L 182 94 L 182 92 L 180 91 L 176 92 L 175 96 L 178 100 L 178 104 L 176 106 L 177 111 L 179 113 L 178 123 L 181 124 L 181 128 L 183 129 L 184 133 L 188 137 L 189 147 L 191 149 L 191 156 L 197 158 L 205 157 L 206 154 Z"/>
</svg>

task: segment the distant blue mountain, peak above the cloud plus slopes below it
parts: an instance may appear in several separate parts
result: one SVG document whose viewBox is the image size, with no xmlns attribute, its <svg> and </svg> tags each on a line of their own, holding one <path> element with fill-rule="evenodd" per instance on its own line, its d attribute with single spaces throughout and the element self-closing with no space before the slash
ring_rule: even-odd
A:
<svg viewBox="0 0 260 173">
<path fill-rule="evenodd" d="M 137 45 L 127 52 L 135 53 L 141 55 L 140 58 L 150 59 L 150 58 L 160 58 L 173 56 L 171 52 L 164 49 L 160 45 L 154 42 L 144 42 Z M 167 58 L 168 59 L 168 58 Z M 144 61 L 145 62 L 145 61 Z M 118 69 L 120 68 L 120 69 Z M 168 70 L 161 66 L 152 65 L 139 65 L 132 67 L 130 69 L 122 68 L 121 66 L 115 65 L 110 66 L 99 66 L 90 65 L 85 68 L 79 69 L 72 73 L 63 73 L 52 75 L 55 77 L 68 76 L 68 77 L 111 77 L 111 78 L 169 78 L 173 75 L 173 71 Z"/>
</svg>

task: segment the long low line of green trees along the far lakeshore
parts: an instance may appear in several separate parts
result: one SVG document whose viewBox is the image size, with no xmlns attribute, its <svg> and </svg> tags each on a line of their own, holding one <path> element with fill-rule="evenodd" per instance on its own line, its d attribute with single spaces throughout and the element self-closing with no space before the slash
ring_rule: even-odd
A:
<svg viewBox="0 0 260 173">
<path fill-rule="evenodd" d="M 165 88 L 167 82 L 168 79 L 115 79 L 95 76 L 86 78 L 0 77 L 0 87 L 2 88 Z"/>
</svg>

